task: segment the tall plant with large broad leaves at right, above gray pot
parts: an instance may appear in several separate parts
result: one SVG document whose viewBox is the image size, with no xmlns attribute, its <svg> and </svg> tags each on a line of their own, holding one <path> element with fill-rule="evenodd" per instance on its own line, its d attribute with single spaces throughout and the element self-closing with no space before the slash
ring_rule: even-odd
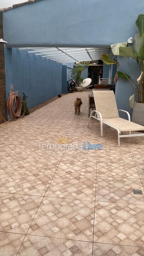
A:
<svg viewBox="0 0 144 256">
<path fill-rule="evenodd" d="M 117 71 L 118 75 L 122 79 L 127 79 L 132 85 L 134 94 L 129 99 L 130 107 L 132 108 L 134 105 L 134 100 L 136 102 L 144 103 L 144 14 L 139 14 L 136 21 L 136 26 L 138 28 L 139 33 L 135 34 L 133 46 L 128 47 L 127 42 L 111 45 L 112 53 L 114 55 L 118 55 L 119 57 L 123 57 L 132 73 L 131 77 L 122 70 Z M 141 74 L 138 79 L 136 78 L 134 69 L 129 62 L 129 58 L 133 58 L 139 65 Z M 119 65 L 119 62 L 111 60 L 108 54 L 103 54 L 101 56 L 101 59 L 104 63 L 108 65 Z"/>
</svg>

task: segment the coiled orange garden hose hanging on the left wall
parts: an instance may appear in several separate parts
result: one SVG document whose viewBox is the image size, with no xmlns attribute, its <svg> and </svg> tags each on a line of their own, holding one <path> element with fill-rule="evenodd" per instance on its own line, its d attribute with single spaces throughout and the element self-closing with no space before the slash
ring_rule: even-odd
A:
<svg viewBox="0 0 144 256">
<path fill-rule="evenodd" d="M 10 120 L 14 119 L 20 119 L 24 116 L 25 111 L 23 112 L 22 116 L 21 116 L 21 107 L 22 107 L 22 102 L 24 103 L 25 106 L 25 102 L 23 101 L 22 97 L 19 94 L 16 94 L 15 92 L 10 92 L 9 94 L 9 98 L 7 101 L 7 107 L 9 109 L 11 118 L 6 121 L 4 119 L 4 117 L 2 116 L 2 113 L 0 111 L 1 117 L 5 122 L 9 122 Z"/>
</svg>

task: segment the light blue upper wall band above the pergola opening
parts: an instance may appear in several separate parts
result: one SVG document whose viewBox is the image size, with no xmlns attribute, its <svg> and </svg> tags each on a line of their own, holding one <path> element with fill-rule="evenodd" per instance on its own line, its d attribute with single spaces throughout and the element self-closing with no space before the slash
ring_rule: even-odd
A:
<svg viewBox="0 0 144 256">
<path fill-rule="evenodd" d="M 143 0 L 41 0 L 3 12 L 4 39 L 11 47 L 109 46 L 134 36 L 143 10 Z"/>
</svg>

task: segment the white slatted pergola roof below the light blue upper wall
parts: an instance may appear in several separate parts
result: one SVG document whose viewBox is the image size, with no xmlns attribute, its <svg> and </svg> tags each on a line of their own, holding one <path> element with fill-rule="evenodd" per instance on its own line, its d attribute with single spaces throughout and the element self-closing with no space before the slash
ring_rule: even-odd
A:
<svg viewBox="0 0 144 256">
<path fill-rule="evenodd" d="M 28 50 L 28 54 L 41 55 L 42 58 L 52 59 L 60 63 L 73 63 L 101 59 L 103 53 L 111 53 L 111 48 L 18 48 Z"/>
</svg>

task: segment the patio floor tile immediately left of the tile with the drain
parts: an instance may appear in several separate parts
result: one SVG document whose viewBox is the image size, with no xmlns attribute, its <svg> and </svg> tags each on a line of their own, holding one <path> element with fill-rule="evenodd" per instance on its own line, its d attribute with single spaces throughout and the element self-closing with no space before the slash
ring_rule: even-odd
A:
<svg viewBox="0 0 144 256">
<path fill-rule="evenodd" d="M 95 176 L 55 174 L 46 196 L 95 200 Z"/>
</svg>

